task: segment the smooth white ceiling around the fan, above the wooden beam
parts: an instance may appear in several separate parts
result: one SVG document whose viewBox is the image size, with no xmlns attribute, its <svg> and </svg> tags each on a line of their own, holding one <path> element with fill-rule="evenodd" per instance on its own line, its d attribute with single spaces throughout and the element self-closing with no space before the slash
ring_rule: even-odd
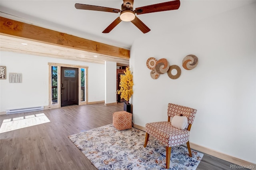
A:
<svg viewBox="0 0 256 170">
<path fill-rule="evenodd" d="M 134 0 L 134 9 L 168 0 Z M 141 14 L 137 17 L 151 31 L 143 34 L 131 22 L 121 22 L 110 33 L 102 31 L 120 14 L 77 10 L 75 3 L 121 9 L 122 0 L 0 0 L 0 16 L 34 24 L 125 49 L 137 38 L 160 34 L 163 30 L 185 26 L 255 0 L 180 0 L 178 10 Z M 1 41 L 2 43 L 2 41 Z"/>
</svg>

